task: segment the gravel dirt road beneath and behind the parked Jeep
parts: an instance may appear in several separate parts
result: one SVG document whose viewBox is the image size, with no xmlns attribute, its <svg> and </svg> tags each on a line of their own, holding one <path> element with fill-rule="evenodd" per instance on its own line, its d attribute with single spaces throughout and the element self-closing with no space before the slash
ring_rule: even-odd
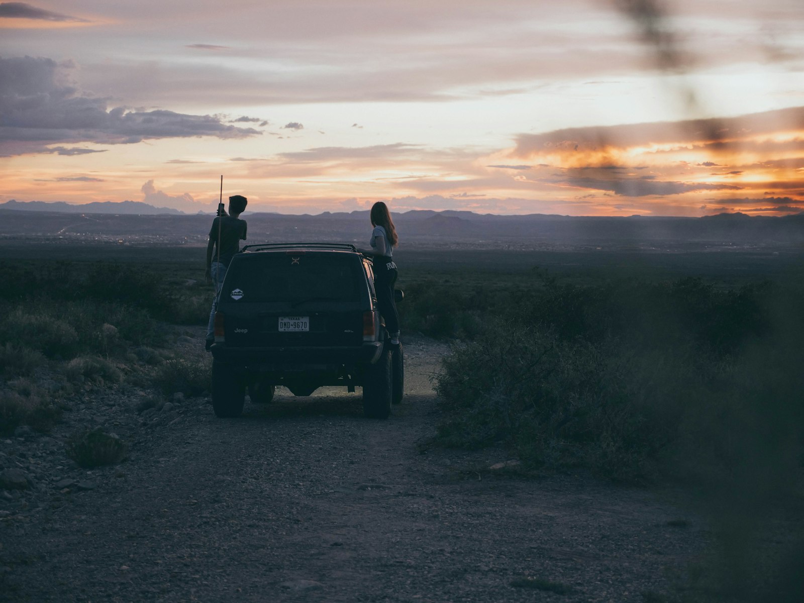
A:
<svg viewBox="0 0 804 603">
<path fill-rule="evenodd" d="M 699 550 L 695 520 L 592 478 L 498 477 L 499 451 L 421 452 L 445 347 L 405 351 L 389 420 L 364 419 L 359 392 L 342 390 L 280 390 L 237 420 L 203 399 L 149 420 L 129 404 L 136 422 L 117 428 L 130 459 L 63 489 L 55 478 L 86 472 L 48 474 L 59 434 L 0 441 L 0 460 L 39 467 L 49 497 L 0 507 L 0 600 L 662 600 L 666 568 Z"/>
</svg>

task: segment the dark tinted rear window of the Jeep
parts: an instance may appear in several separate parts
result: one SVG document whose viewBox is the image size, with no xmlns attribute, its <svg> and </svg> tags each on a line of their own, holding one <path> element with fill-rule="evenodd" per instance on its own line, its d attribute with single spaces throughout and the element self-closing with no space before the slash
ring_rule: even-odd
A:
<svg viewBox="0 0 804 603">
<path fill-rule="evenodd" d="M 239 289 L 240 302 L 360 301 L 365 281 L 350 253 L 256 252 L 233 261 L 226 275 L 226 287 Z"/>
</svg>

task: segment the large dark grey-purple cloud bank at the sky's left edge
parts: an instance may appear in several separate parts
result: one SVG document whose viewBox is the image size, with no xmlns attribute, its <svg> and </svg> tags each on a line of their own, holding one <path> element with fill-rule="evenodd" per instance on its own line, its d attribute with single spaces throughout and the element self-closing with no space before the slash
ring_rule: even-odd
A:
<svg viewBox="0 0 804 603">
<path fill-rule="evenodd" d="M 82 154 L 48 146 L 64 142 L 132 144 L 166 137 L 243 138 L 256 129 L 226 125 L 219 117 L 165 109 L 108 109 L 105 99 L 82 95 L 65 84 L 72 64 L 30 56 L 0 59 L 0 153 Z"/>
</svg>

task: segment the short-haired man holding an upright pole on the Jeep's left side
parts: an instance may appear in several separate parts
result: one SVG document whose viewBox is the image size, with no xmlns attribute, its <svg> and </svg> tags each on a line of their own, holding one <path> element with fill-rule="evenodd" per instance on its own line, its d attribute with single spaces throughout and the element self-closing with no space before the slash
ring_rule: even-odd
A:
<svg viewBox="0 0 804 603">
<path fill-rule="evenodd" d="M 248 199 L 243 195 L 229 197 L 229 213 L 223 211 L 223 215 L 219 215 L 212 221 L 212 228 L 209 229 L 207 273 L 204 276 L 207 278 L 207 283 L 215 283 L 215 299 L 212 300 L 212 310 L 209 313 L 209 324 L 207 325 L 207 351 L 215 343 L 215 310 L 218 309 L 218 295 L 224 284 L 226 270 L 232 257 L 240 252 L 240 240 L 246 238 L 246 221 L 240 219 L 246 203 L 248 203 Z M 216 246 L 217 253 L 215 253 Z M 215 256 L 215 261 L 212 261 L 213 256 Z"/>
</svg>

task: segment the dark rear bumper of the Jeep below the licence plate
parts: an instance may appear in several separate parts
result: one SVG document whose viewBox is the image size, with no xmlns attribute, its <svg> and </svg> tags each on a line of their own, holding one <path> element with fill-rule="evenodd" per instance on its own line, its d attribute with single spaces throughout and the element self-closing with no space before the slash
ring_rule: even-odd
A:
<svg viewBox="0 0 804 603">
<path fill-rule="evenodd" d="M 375 363 L 383 349 L 382 342 L 343 347 L 227 347 L 215 343 L 212 358 L 219 363 L 252 367 L 260 371 L 299 371 L 321 367 Z"/>
</svg>

